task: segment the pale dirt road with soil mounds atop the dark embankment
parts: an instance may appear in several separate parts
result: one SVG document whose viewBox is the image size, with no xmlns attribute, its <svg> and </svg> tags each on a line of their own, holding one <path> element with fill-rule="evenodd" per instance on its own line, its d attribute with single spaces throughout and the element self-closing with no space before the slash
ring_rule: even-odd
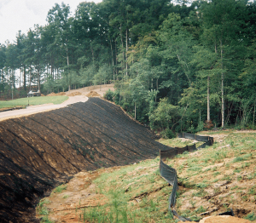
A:
<svg viewBox="0 0 256 223">
<path fill-rule="evenodd" d="M 0 112 L 0 122 L 6 119 L 15 118 L 15 117 L 25 117 L 32 114 L 36 114 L 39 112 L 44 111 L 51 111 L 55 109 L 59 109 L 61 107 L 66 107 L 68 105 L 78 103 L 78 102 L 85 102 L 88 100 L 87 94 L 90 93 L 90 91 L 94 91 L 100 96 L 103 96 L 103 94 L 108 91 L 108 89 L 113 90 L 113 84 L 106 84 L 102 86 L 91 86 L 91 87 L 85 87 L 83 89 L 73 89 L 70 91 L 65 92 L 65 94 L 68 95 L 75 95 L 75 96 L 69 96 L 69 99 L 61 103 L 60 105 L 54 105 L 52 103 L 45 104 L 45 105 L 39 105 L 39 106 L 28 106 L 26 109 L 20 109 L 20 110 L 13 110 L 13 111 L 2 111 Z M 63 94 L 63 95 L 65 95 Z"/>
</svg>

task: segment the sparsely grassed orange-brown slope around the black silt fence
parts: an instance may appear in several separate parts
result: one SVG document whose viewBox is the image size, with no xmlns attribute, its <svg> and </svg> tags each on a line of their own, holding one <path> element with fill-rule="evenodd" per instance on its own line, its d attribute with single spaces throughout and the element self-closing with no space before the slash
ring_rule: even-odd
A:
<svg viewBox="0 0 256 223">
<path fill-rule="evenodd" d="M 199 220 L 233 209 L 236 217 L 256 222 L 256 131 L 201 134 L 214 137 L 213 146 L 165 161 L 177 169 L 177 213 Z M 183 147 L 195 140 L 160 142 Z M 159 162 L 156 157 L 124 167 L 80 172 L 39 203 L 38 216 L 53 222 L 73 223 L 117 219 L 177 222 L 168 211 L 172 186 L 160 177 Z"/>
</svg>

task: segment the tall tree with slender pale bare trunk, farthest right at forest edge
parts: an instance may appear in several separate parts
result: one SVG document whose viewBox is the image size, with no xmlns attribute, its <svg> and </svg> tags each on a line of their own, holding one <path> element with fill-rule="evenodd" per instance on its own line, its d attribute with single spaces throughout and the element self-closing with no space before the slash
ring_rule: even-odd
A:
<svg viewBox="0 0 256 223">
<path fill-rule="evenodd" d="M 242 37 L 243 16 L 247 1 L 212 0 L 202 5 L 204 41 L 211 44 L 218 55 L 218 68 L 221 72 L 221 126 L 224 128 L 224 73 L 227 71 L 230 47 L 239 43 Z"/>
</svg>

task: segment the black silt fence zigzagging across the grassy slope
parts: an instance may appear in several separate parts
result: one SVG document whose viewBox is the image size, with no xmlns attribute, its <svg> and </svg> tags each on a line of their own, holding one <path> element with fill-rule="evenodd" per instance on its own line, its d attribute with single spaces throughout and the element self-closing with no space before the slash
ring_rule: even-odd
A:
<svg viewBox="0 0 256 223">
<path fill-rule="evenodd" d="M 177 186 L 177 171 L 176 169 L 173 169 L 172 167 L 166 165 L 164 161 L 166 158 L 173 158 L 177 154 L 182 154 L 183 152 L 192 152 L 201 148 L 205 148 L 206 146 L 212 146 L 213 145 L 213 137 L 210 136 L 201 136 L 196 134 L 189 134 L 189 133 L 179 133 L 177 134 L 178 138 L 186 138 L 190 140 L 197 140 L 197 141 L 204 141 L 205 143 L 198 148 L 196 148 L 195 144 L 192 146 L 185 146 L 183 148 L 172 148 L 168 150 L 160 150 L 160 175 L 170 184 L 172 185 L 172 193 L 169 197 L 169 206 L 168 209 L 172 211 L 172 214 L 177 216 L 179 220 L 182 221 L 191 221 L 188 218 L 185 218 L 183 216 L 180 216 L 177 214 L 175 208 L 176 203 L 176 192 L 178 190 Z"/>
</svg>

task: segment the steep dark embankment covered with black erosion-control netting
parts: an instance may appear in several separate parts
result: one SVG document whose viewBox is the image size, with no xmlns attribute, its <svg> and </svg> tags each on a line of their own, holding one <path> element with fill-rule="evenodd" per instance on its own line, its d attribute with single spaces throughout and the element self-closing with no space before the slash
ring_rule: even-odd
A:
<svg viewBox="0 0 256 223">
<path fill-rule="evenodd" d="M 154 137 L 98 98 L 1 122 L 1 222 L 32 222 L 38 197 L 81 170 L 156 157 L 166 146 Z"/>
</svg>

